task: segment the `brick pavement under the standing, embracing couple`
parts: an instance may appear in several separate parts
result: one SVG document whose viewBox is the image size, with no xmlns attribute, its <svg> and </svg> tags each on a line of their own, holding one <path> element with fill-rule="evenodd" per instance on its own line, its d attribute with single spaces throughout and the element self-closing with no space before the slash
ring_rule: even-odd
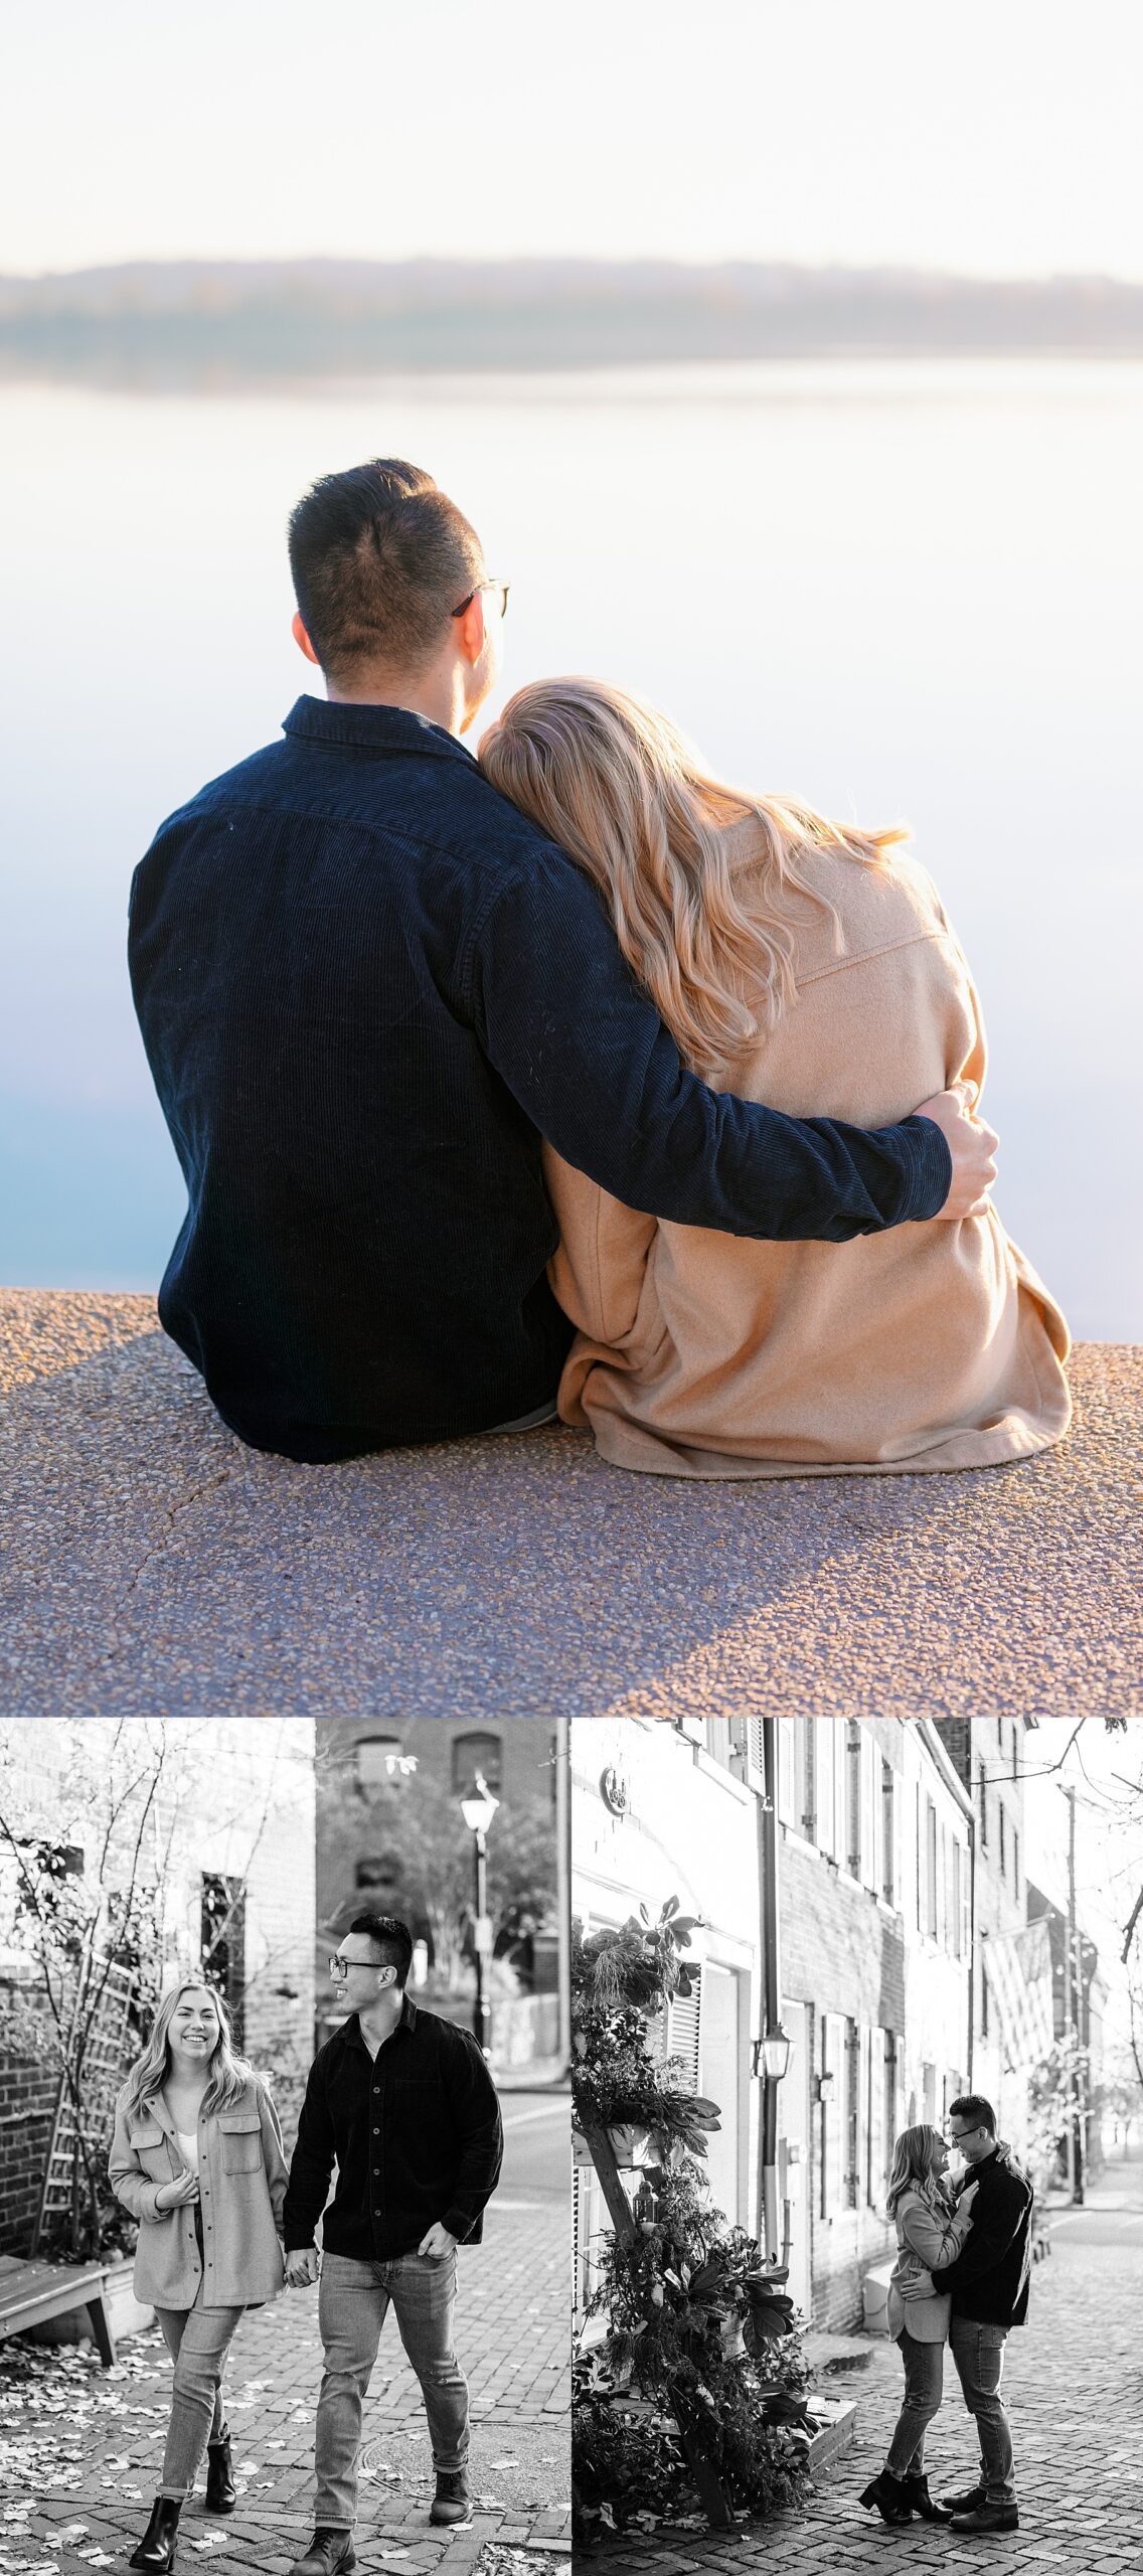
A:
<svg viewBox="0 0 1143 2576">
<path fill-rule="evenodd" d="M 813 2488 L 801 2514 L 754 2524 L 741 2543 L 662 2530 L 600 2553 L 600 2576 L 690 2576 L 736 2568 L 749 2576 L 862 2576 L 893 2566 L 1004 2568 L 1004 2576 L 1138 2576 L 1143 2566 L 1143 2246 L 1061 2236 L 1032 2275 L 1030 2324 L 1009 2336 L 1004 2396 L 1017 2452 L 1019 2532 L 968 2535 L 909 2522 L 891 2530 L 857 2496 L 886 2458 L 901 2403 L 901 2360 L 875 2344 L 865 2370 L 826 2385 L 857 2398 L 857 2437 Z M 945 2354 L 945 2403 L 929 2432 L 929 2483 L 973 2483 L 976 2437 Z"/>
</svg>

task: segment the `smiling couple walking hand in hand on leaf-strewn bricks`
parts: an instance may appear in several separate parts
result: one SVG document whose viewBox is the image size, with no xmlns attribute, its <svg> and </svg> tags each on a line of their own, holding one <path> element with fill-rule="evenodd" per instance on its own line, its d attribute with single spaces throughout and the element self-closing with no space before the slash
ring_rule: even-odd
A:
<svg viewBox="0 0 1143 2576">
<path fill-rule="evenodd" d="M 502 2123 L 476 2040 L 409 2002 L 409 1963 L 399 1917 L 353 1919 L 330 1958 L 350 2012 L 309 2071 L 291 2166 L 268 2084 L 234 2056 L 214 1986 L 178 1986 L 154 2014 L 116 2102 L 108 2156 L 111 2184 L 139 2221 L 134 2287 L 175 2362 L 162 2483 L 131 2568 L 172 2568 L 203 2452 L 206 2509 L 234 2512 L 229 2344 L 247 2308 L 314 2280 L 324 2347 L 317 2527 L 291 2576 L 342 2576 L 355 2563 L 360 2419 L 389 2306 L 425 2398 L 430 2522 L 471 2514 L 456 2246 L 481 2241 Z"/>
</svg>

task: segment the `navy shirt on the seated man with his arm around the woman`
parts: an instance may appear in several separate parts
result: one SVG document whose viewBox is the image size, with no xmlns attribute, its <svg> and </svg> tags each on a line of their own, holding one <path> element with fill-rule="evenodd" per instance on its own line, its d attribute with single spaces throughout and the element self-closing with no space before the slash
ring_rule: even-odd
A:
<svg viewBox="0 0 1143 2576">
<path fill-rule="evenodd" d="M 705 1090 L 582 871 L 404 708 L 299 698 L 157 832 L 129 956 L 188 1185 L 160 1316 L 286 1458 L 553 1396 L 541 1136 L 729 1234 L 847 1242 L 947 1198 L 927 1118 L 865 1133 Z"/>
</svg>

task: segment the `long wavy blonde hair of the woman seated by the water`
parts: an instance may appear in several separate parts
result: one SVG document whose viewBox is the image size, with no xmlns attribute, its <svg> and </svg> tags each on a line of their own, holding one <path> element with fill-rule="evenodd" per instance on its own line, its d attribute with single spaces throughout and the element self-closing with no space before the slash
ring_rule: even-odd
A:
<svg viewBox="0 0 1143 2576">
<path fill-rule="evenodd" d="M 600 889 L 633 976 L 685 1064 L 713 1084 L 793 1002 L 790 891 L 821 904 L 842 943 L 816 855 L 878 866 L 909 837 L 726 786 L 667 716 L 608 680 L 530 680 L 484 734 L 479 762 Z M 749 814 L 765 848 L 747 907 L 726 827 Z"/>
</svg>

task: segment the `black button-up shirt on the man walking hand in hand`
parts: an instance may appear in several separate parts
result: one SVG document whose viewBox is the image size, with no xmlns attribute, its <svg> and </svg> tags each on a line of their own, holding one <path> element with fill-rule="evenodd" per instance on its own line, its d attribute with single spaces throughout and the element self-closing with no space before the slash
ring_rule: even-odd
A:
<svg viewBox="0 0 1143 2576">
<path fill-rule="evenodd" d="M 412 2254 L 438 2221 L 461 2244 L 479 2244 L 502 2154 L 497 2089 L 469 2030 L 404 1996 L 396 2030 L 371 2058 L 353 2012 L 309 2069 L 286 2251 L 314 2241 L 322 2210 L 327 2254 L 358 2262 Z M 324 2208 L 335 2164 L 337 2192 Z"/>
</svg>

